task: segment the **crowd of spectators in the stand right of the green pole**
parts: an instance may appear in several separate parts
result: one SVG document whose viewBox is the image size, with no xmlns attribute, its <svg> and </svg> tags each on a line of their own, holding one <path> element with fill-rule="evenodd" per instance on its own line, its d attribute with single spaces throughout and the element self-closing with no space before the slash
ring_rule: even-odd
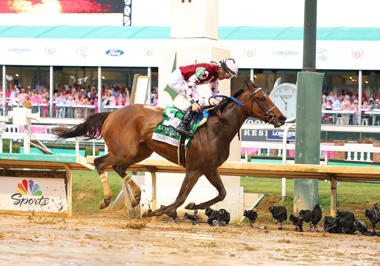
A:
<svg viewBox="0 0 380 266">
<path fill-rule="evenodd" d="M 361 95 L 362 101 L 362 110 L 370 111 L 373 109 L 380 109 L 380 93 L 373 92 L 371 97 L 367 99 L 366 92 L 362 92 Z M 338 94 L 334 92 L 329 92 L 329 95 L 326 95 L 325 92 L 322 93 L 322 110 L 342 110 L 342 111 L 354 111 L 355 115 L 353 116 L 353 123 L 358 123 L 359 121 L 359 98 L 355 90 L 351 92 L 346 90 L 343 94 L 342 90 L 338 91 Z M 347 114 L 342 114 L 342 120 L 344 124 L 347 124 L 349 121 L 349 116 Z M 324 116 L 326 122 L 332 121 L 332 116 L 326 114 Z"/>
</svg>

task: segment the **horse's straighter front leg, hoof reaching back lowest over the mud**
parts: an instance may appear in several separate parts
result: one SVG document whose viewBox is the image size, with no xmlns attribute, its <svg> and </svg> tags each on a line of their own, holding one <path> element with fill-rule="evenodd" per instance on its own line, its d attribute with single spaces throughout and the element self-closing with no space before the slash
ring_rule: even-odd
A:
<svg viewBox="0 0 380 266">
<path fill-rule="evenodd" d="M 185 179 L 182 182 L 176 201 L 174 201 L 174 203 L 166 207 L 157 209 L 155 211 L 149 209 L 145 211 L 144 214 L 142 214 L 142 217 L 161 216 L 173 210 L 174 208 L 181 206 L 185 202 L 187 196 L 189 195 L 190 191 L 198 181 L 199 177 L 201 177 L 201 175 L 202 173 L 198 170 L 186 172 Z"/>
</svg>

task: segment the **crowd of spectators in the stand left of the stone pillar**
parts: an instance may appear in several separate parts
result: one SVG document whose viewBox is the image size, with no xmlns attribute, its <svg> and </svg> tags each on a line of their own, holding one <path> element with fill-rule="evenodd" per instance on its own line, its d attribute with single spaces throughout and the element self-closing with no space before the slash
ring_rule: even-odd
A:
<svg viewBox="0 0 380 266">
<path fill-rule="evenodd" d="M 126 106 L 130 104 L 130 90 L 126 89 L 125 86 L 110 86 L 102 85 L 101 96 L 98 95 L 97 86 L 87 86 L 82 87 L 79 84 L 74 84 L 73 86 L 68 86 L 66 89 L 63 85 L 58 85 L 57 89 L 54 90 L 54 96 L 51 101 L 50 90 L 45 88 L 39 82 L 35 89 L 32 86 L 27 86 L 25 90 L 23 87 L 18 87 L 16 84 L 12 86 L 9 84 L 6 88 L 6 95 L 3 97 L 3 88 L 0 86 L 0 105 L 3 105 L 3 101 L 9 98 L 7 102 L 8 109 L 16 105 L 16 102 L 22 103 L 32 103 L 34 104 L 34 110 L 36 112 L 38 106 L 42 106 L 42 117 L 49 116 L 49 104 L 52 102 L 54 104 L 53 112 L 57 111 L 56 105 L 93 105 L 95 106 L 94 112 L 98 112 L 98 105 L 101 106 Z M 151 98 L 147 100 L 147 104 L 157 106 L 158 95 L 157 90 L 154 88 L 151 93 Z M 149 102 L 150 101 L 150 102 Z M 74 117 L 82 118 L 84 117 L 83 108 L 74 109 Z"/>
</svg>

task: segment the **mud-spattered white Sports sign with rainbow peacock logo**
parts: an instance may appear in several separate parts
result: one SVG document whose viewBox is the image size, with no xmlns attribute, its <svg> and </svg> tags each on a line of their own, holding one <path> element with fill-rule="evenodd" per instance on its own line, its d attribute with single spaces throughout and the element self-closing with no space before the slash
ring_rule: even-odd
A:
<svg viewBox="0 0 380 266">
<path fill-rule="evenodd" d="M 67 213 L 65 180 L 2 177 L 0 209 Z"/>
</svg>

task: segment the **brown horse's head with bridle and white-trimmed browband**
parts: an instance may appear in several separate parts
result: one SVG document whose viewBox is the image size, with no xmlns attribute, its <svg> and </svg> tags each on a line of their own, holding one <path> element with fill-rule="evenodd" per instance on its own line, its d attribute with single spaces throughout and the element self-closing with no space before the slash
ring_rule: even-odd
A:
<svg viewBox="0 0 380 266">
<path fill-rule="evenodd" d="M 247 107 L 249 116 L 261 119 L 274 125 L 274 127 L 281 127 L 285 123 L 286 116 L 261 88 L 258 88 L 252 81 L 250 83 L 244 82 L 248 93 L 243 93 L 239 100 Z"/>
</svg>

